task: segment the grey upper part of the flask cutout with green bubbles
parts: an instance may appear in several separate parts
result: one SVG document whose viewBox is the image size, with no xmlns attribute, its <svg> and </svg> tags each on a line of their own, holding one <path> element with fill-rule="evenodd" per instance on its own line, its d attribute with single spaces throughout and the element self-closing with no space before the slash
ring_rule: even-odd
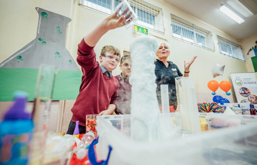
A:
<svg viewBox="0 0 257 165">
<path fill-rule="evenodd" d="M 80 71 L 65 47 L 66 27 L 70 18 L 39 7 L 36 38 L 0 64 L 0 68 L 35 68 L 54 65 L 60 70 Z"/>
</svg>

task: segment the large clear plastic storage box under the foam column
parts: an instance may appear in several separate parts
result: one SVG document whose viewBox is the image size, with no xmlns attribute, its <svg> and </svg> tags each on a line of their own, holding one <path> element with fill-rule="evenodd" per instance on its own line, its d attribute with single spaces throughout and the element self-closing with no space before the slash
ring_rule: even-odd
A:
<svg viewBox="0 0 257 165">
<path fill-rule="evenodd" d="M 111 146 L 108 164 L 257 164 L 257 116 L 199 113 L 199 120 L 209 131 L 183 133 L 178 113 L 170 113 L 169 138 L 137 142 L 130 115 L 97 116 L 97 158 L 106 160 Z"/>
</svg>

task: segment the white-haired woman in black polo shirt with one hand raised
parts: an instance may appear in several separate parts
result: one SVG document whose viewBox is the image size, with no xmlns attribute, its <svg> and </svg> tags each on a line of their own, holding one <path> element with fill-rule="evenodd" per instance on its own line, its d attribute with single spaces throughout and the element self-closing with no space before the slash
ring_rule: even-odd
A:
<svg viewBox="0 0 257 165">
<path fill-rule="evenodd" d="M 167 42 L 160 42 L 158 45 L 158 50 L 156 52 L 156 56 L 158 59 L 155 61 L 155 75 L 156 75 L 156 84 L 157 84 L 157 99 L 159 103 L 160 110 L 161 109 L 161 85 L 167 84 L 169 90 L 169 110 L 170 112 L 175 112 L 175 103 L 177 101 L 176 95 L 176 86 L 175 86 L 175 78 L 181 77 L 183 74 L 178 69 L 176 64 L 168 61 L 169 57 L 169 44 Z M 193 57 L 189 62 L 184 61 L 184 77 L 189 76 L 189 68 L 191 64 L 195 61 L 197 56 Z"/>
</svg>

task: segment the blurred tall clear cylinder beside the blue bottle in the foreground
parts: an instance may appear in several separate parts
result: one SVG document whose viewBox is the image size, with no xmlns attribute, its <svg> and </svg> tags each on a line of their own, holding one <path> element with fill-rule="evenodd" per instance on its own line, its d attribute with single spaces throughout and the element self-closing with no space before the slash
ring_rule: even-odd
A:
<svg viewBox="0 0 257 165">
<path fill-rule="evenodd" d="M 41 64 L 39 66 L 33 108 L 35 130 L 33 133 L 33 152 L 30 164 L 43 164 L 56 71 L 53 65 Z"/>
</svg>

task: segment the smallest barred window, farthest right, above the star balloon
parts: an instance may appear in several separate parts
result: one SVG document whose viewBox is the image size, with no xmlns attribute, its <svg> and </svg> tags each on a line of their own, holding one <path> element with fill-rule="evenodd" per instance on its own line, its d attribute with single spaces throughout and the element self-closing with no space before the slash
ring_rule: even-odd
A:
<svg viewBox="0 0 257 165">
<path fill-rule="evenodd" d="M 219 52 L 229 57 L 245 61 L 242 47 L 234 42 L 224 39 L 217 35 Z"/>
</svg>

